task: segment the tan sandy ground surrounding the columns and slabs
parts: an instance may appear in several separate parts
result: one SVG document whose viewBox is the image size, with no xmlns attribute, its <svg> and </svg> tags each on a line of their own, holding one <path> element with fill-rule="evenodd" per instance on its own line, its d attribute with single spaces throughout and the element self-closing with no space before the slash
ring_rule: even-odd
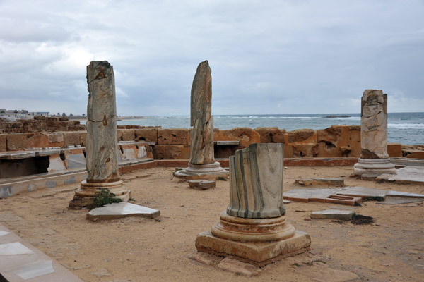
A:
<svg viewBox="0 0 424 282">
<path fill-rule="evenodd" d="M 228 181 L 192 190 L 172 178 L 173 168 L 122 176 L 136 204 L 159 209 L 158 220 L 127 218 L 91 222 L 86 211 L 69 211 L 78 185 L 67 185 L 0 200 L 0 221 L 84 281 L 424 281 L 424 204 L 365 202 L 357 214 L 372 225 L 308 220 L 310 212 L 335 204 L 292 202 L 288 222 L 310 233 L 309 253 L 244 277 L 188 259 L 196 235 L 208 231 L 228 205 Z M 300 188 L 298 177 L 343 177 L 346 185 L 424 193 L 418 185 L 377 184 L 348 176 L 352 167 L 288 167 L 285 190 Z M 346 206 L 340 206 L 346 207 Z"/>
</svg>

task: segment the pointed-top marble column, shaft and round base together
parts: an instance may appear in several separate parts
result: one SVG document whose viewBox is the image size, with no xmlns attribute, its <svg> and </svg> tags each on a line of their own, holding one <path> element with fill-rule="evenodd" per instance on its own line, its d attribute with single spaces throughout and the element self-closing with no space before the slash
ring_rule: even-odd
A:
<svg viewBox="0 0 424 282">
<path fill-rule="evenodd" d="M 175 176 L 187 180 L 227 177 L 213 157 L 212 77 L 208 61 L 199 63 L 194 75 L 190 104 L 189 167 Z"/>
</svg>

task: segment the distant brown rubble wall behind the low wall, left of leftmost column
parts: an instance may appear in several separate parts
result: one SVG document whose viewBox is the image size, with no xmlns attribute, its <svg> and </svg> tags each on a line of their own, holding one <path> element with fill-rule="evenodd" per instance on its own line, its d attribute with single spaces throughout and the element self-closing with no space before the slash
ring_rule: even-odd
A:
<svg viewBox="0 0 424 282">
<path fill-rule="evenodd" d="M 69 121 L 66 117 L 35 116 L 34 119 L 0 121 L 0 133 L 42 133 L 46 131 L 86 130 L 79 121 Z"/>
</svg>

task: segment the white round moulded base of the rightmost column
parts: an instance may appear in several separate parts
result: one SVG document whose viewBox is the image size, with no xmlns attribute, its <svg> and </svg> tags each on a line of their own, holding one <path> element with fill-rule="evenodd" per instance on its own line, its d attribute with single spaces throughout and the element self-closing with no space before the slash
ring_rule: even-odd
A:
<svg viewBox="0 0 424 282">
<path fill-rule="evenodd" d="M 382 174 L 396 174 L 394 164 L 391 164 L 390 159 L 358 159 L 358 164 L 353 166 L 355 176 L 363 174 L 371 176 L 379 176 Z"/>
</svg>

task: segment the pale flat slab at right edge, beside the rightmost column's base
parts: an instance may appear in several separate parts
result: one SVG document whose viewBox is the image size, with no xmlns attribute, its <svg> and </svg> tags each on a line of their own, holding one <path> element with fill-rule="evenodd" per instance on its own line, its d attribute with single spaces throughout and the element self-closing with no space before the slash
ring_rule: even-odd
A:
<svg viewBox="0 0 424 282">
<path fill-rule="evenodd" d="M 424 185 L 424 166 L 405 166 L 404 168 L 396 169 L 396 174 L 382 174 L 376 180 L 399 184 Z"/>
</svg>

